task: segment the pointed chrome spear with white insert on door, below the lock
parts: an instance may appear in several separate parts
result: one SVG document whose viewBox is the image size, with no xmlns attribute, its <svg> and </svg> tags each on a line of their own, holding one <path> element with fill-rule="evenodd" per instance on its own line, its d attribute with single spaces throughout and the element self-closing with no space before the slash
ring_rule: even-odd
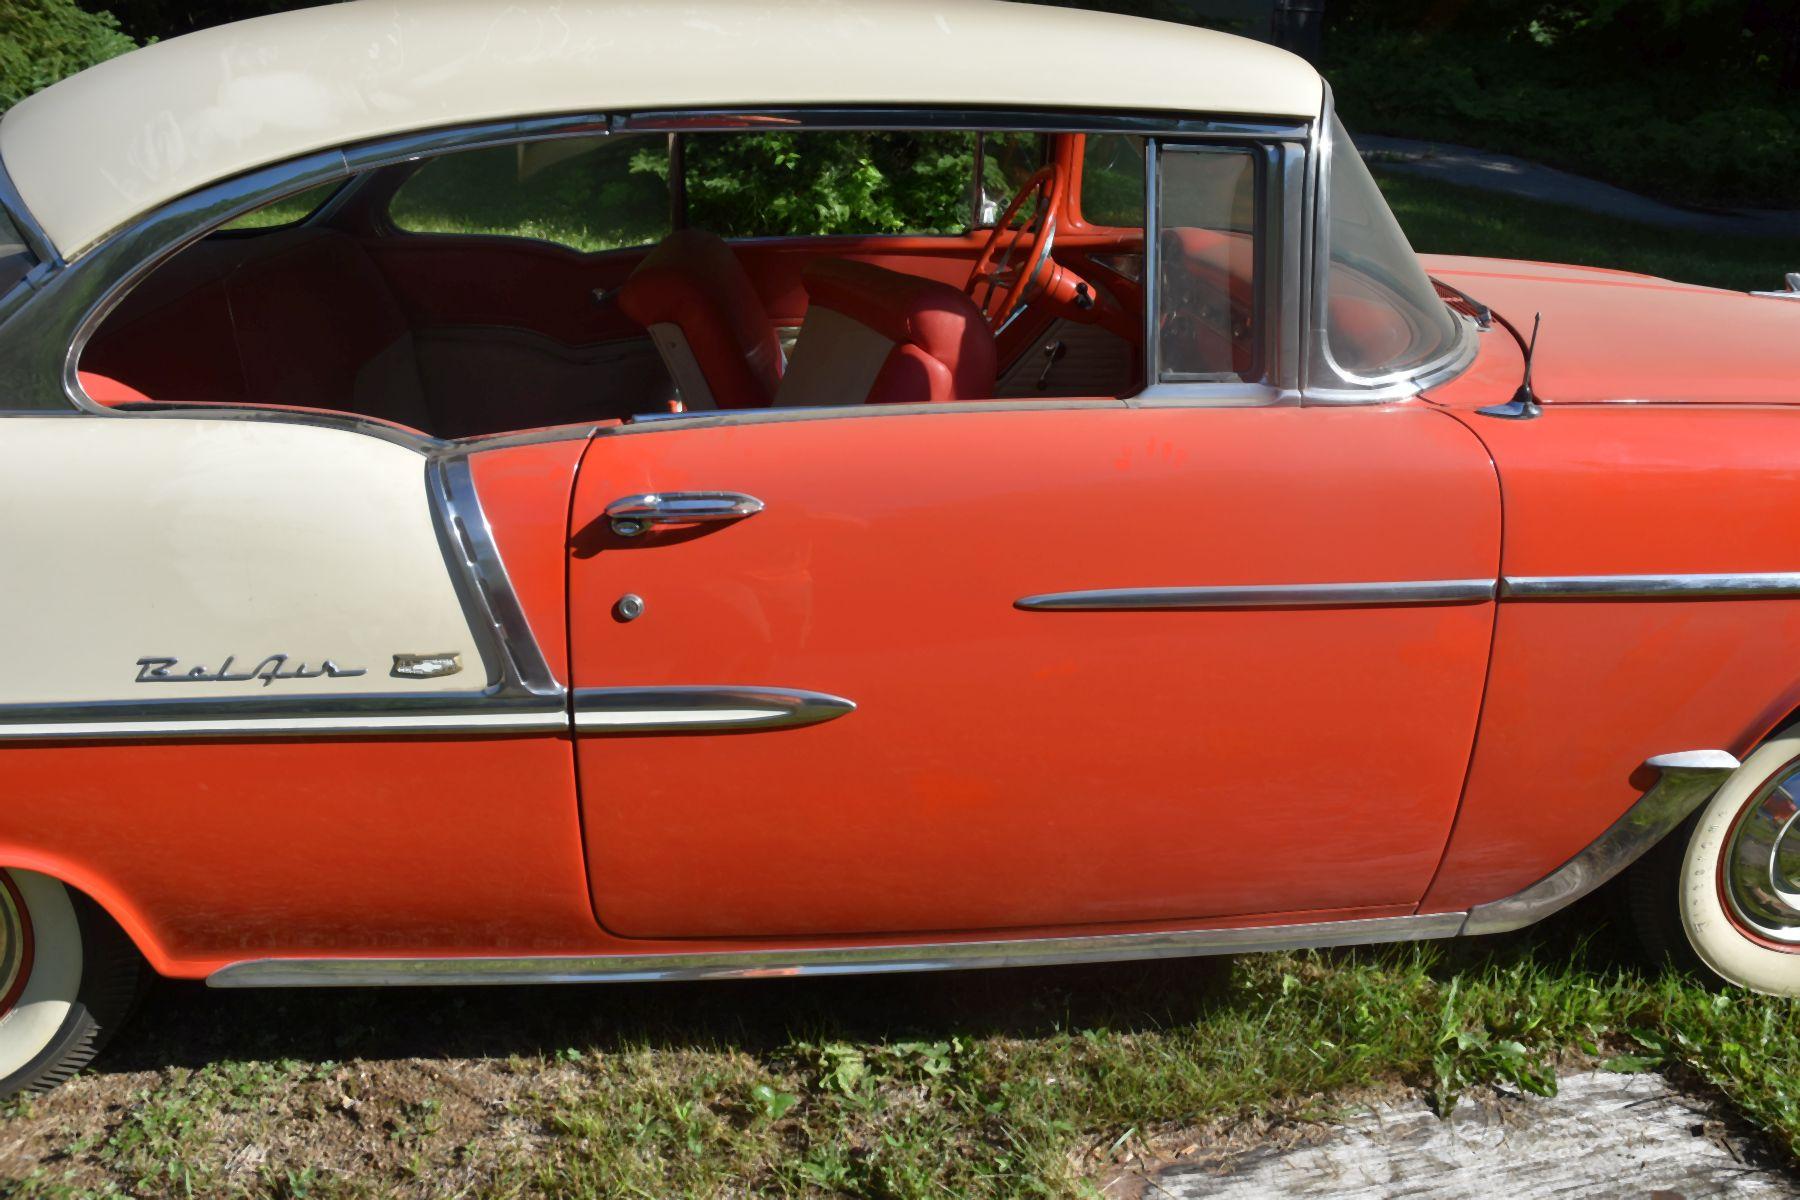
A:
<svg viewBox="0 0 1800 1200">
<path fill-rule="evenodd" d="M 855 712 L 842 696 L 790 687 L 581 687 L 574 727 L 585 734 L 790 729 Z"/>
</svg>

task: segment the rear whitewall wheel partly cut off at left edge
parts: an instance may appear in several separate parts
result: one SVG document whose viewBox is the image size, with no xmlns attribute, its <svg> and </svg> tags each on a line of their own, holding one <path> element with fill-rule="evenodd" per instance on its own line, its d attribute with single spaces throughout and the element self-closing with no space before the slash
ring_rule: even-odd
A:
<svg viewBox="0 0 1800 1200">
<path fill-rule="evenodd" d="M 56 1087 L 124 1020 L 144 961 L 86 896 L 0 871 L 0 1097 Z"/>
</svg>

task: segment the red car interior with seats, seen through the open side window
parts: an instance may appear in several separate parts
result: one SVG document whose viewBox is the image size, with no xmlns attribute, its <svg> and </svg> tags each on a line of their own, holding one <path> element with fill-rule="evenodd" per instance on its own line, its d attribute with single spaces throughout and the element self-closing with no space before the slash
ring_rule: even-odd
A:
<svg viewBox="0 0 1800 1200">
<path fill-rule="evenodd" d="M 373 203 L 391 191 L 371 189 Z M 677 394 L 688 410 L 983 399 L 1013 360 L 1013 394 L 1073 394 L 1037 380 L 1051 338 L 1078 345 L 1058 383 L 1080 394 L 1123 394 L 1138 374 L 1136 295 L 1121 308 L 1102 290 L 1096 317 L 1040 297 L 995 344 L 961 290 L 986 230 L 731 245 L 686 228 L 583 254 L 394 234 L 378 216 L 346 207 L 176 254 L 88 342 L 90 398 L 335 410 L 468 437 L 666 412 Z M 1121 236 L 1141 245 L 1138 230 L 1087 228 L 1071 261 L 1076 241 L 1103 252 Z M 1069 317 L 1102 327 L 1071 335 Z M 778 331 L 796 324 L 785 363 Z"/>
</svg>

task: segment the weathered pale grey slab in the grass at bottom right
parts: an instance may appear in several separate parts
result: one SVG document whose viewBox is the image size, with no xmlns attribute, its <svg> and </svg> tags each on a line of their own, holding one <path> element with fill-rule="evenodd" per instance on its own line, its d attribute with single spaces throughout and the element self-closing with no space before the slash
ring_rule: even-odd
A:
<svg viewBox="0 0 1800 1200">
<path fill-rule="evenodd" d="M 1424 1101 L 1350 1117 L 1314 1146 L 1251 1151 L 1229 1164 L 1174 1164 L 1145 1200 L 1330 1196 L 1402 1200 L 1764 1200 L 1796 1196 L 1795 1177 L 1744 1162 L 1705 1103 L 1654 1074 L 1600 1070 L 1553 1097 L 1458 1105 L 1444 1121 Z"/>
</svg>

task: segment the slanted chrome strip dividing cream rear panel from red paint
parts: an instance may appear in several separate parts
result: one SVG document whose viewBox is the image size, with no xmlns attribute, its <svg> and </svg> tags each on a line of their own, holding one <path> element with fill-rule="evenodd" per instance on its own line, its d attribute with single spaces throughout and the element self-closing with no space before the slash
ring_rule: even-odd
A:
<svg viewBox="0 0 1800 1200">
<path fill-rule="evenodd" d="M 500 547 L 475 491 L 468 452 L 432 455 L 425 464 L 425 479 L 445 561 L 470 631 L 482 646 L 490 693 L 497 698 L 560 700 L 563 685 L 551 673 L 531 621 L 513 592 Z"/>
</svg>

